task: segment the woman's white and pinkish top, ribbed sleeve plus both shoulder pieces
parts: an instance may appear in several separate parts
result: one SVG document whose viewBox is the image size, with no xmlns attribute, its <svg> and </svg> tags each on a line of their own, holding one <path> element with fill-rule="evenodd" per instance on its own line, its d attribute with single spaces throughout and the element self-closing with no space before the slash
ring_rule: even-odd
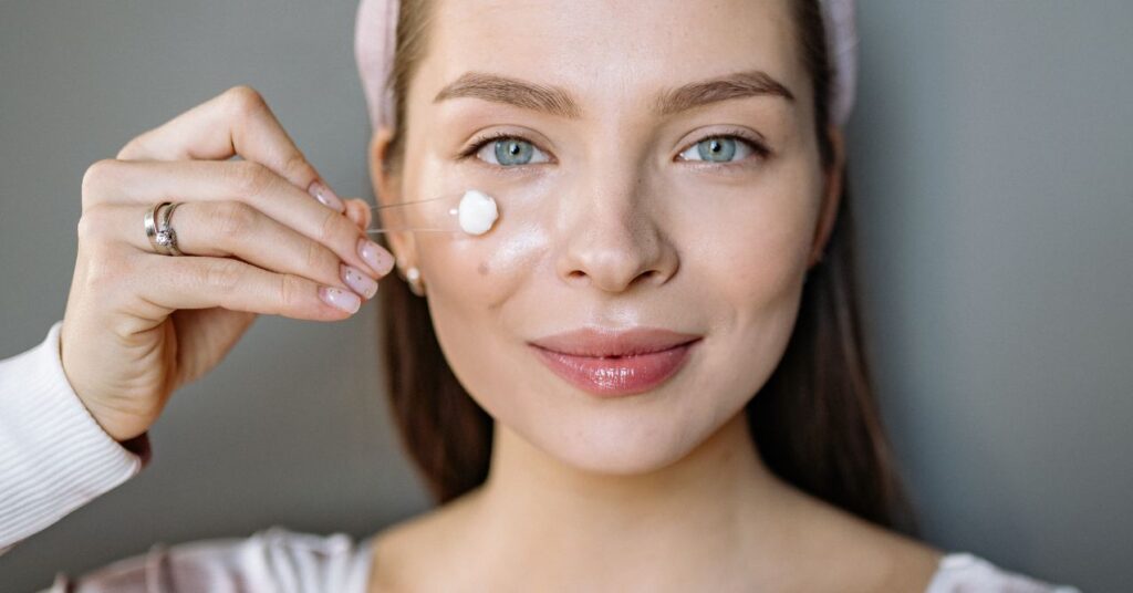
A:
<svg viewBox="0 0 1133 593">
<path fill-rule="evenodd" d="M 39 346 L 0 361 L 0 553 L 137 475 L 148 434 L 119 443 L 71 389 L 56 322 Z M 144 554 L 71 577 L 41 593 L 366 593 L 376 535 L 316 535 L 272 526 L 249 537 L 155 543 Z M 1004 570 L 968 552 L 940 559 L 926 593 L 1081 593 Z"/>
</svg>

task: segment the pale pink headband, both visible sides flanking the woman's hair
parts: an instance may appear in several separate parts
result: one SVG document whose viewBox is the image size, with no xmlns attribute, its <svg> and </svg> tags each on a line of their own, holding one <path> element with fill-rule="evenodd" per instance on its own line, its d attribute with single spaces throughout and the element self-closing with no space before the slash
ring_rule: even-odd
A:
<svg viewBox="0 0 1133 593">
<path fill-rule="evenodd" d="M 393 127 L 393 91 L 385 87 L 393 68 L 399 0 L 361 0 L 355 22 L 355 58 L 361 75 L 369 121 L 374 127 Z M 819 0 L 826 23 L 826 42 L 834 67 L 830 88 L 830 119 L 844 126 L 853 108 L 857 78 L 858 31 L 854 0 Z"/>
</svg>

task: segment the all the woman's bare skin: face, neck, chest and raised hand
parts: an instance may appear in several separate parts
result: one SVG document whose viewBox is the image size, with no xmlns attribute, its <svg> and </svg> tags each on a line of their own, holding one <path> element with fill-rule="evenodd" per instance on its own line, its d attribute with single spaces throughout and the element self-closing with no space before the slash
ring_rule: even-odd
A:
<svg viewBox="0 0 1133 593">
<path fill-rule="evenodd" d="M 374 136 L 385 202 L 470 184 L 508 198 L 500 232 L 392 237 L 402 264 L 421 270 L 441 345 L 496 418 L 496 442 L 484 488 L 380 534 L 374 591 L 923 591 L 935 570 L 938 550 L 806 495 L 755 454 L 740 412 L 782 355 L 841 181 L 818 164 L 785 5 L 685 5 L 452 0 L 411 88 L 400 176 L 378 167 L 389 130 Z M 525 51 L 483 43 L 496 37 Z M 647 109 L 661 88 L 741 67 L 770 73 L 795 107 Z M 566 88 L 580 117 L 432 101 L 469 69 Z M 765 135 L 773 156 L 733 172 L 675 159 L 724 124 Z M 550 164 L 505 178 L 454 161 L 474 132 L 503 126 L 535 136 Z M 841 133 L 830 134 L 840 166 Z M 350 290 L 343 264 L 372 280 L 390 272 L 390 254 L 372 268 L 356 252 L 372 222 L 365 202 L 322 204 L 316 180 L 247 86 L 91 166 L 60 356 L 109 435 L 129 446 L 258 314 L 348 319 L 318 297 L 320 286 Z M 170 196 L 182 203 L 185 257 L 155 254 L 138 225 Z M 523 345 L 581 324 L 705 338 L 653 392 L 598 400 Z"/>
</svg>

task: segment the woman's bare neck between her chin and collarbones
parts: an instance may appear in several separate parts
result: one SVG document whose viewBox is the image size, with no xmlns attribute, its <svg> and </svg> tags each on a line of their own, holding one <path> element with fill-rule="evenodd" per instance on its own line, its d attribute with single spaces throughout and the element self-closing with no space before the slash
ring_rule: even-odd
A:
<svg viewBox="0 0 1133 593">
<path fill-rule="evenodd" d="M 491 467 L 474 503 L 483 551 L 522 558 L 531 578 L 713 574 L 769 558 L 790 528 L 791 491 L 764 466 L 742 412 L 680 460 L 633 475 L 565 465 L 497 423 Z"/>
</svg>

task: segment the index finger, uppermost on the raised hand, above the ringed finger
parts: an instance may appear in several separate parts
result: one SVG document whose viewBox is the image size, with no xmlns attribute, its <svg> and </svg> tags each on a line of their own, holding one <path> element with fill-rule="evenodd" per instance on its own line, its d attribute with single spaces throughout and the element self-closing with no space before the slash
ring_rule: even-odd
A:
<svg viewBox="0 0 1133 593">
<path fill-rule="evenodd" d="M 233 86 L 134 137 L 118 152 L 117 159 L 179 161 L 232 156 L 263 164 L 340 213 L 347 210 L 295 145 L 263 95 L 247 85 Z"/>
</svg>

